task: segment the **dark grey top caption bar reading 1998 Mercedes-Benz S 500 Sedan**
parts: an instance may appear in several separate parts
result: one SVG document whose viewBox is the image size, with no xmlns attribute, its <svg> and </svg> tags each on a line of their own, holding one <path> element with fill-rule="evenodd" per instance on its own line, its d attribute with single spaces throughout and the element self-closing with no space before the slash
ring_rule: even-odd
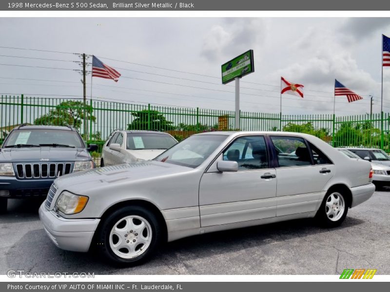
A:
<svg viewBox="0 0 390 292">
<path fill-rule="evenodd" d="M 384 0 L 1 0 L 7 11 L 386 11 Z"/>
</svg>

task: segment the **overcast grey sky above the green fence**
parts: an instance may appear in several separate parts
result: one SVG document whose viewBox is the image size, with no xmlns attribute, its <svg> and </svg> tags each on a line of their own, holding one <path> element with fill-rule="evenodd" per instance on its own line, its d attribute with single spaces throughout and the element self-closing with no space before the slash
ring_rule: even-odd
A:
<svg viewBox="0 0 390 292">
<path fill-rule="evenodd" d="M 95 99 L 234 110 L 234 83 L 221 84 L 220 66 L 253 49 L 241 110 L 279 112 L 283 76 L 305 85 L 303 99 L 283 95 L 286 114 L 332 113 L 334 78 L 364 96 L 337 97 L 337 115 L 370 112 L 370 94 L 379 112 L 381 34 L 390 36 L 390 18 L 0 18 L 0 27 L 1 94 L 81 97 L 80 59 L 66 53 L 86 53 L 122 74 L 117 83 L 94 77 Z"/>
</svg>

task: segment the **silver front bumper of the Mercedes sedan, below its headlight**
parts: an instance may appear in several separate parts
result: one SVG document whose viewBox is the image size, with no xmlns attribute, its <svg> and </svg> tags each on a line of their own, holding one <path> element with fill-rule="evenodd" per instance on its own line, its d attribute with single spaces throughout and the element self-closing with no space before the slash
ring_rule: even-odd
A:
<svg viewBox="0 0 390 292">
<path fill-rule="evenodd" d="M 46 209 L 39 208 L 39 218 L 50 239 L 59 248 L 72 252 L 88 252 L 100 219 L 65 219 Z"/>
</svg>

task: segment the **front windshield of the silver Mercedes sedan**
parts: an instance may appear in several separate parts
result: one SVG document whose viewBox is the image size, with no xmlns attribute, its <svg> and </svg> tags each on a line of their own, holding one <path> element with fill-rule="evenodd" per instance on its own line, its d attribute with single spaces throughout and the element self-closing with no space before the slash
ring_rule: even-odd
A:
<svg viewBox="0 0 390 292">
<path fill-rule="evenodd" d="M 154 160 L 188 167 L 198 167 L 229 136 L 195 135 L 158 155 Z"/>
</svg>

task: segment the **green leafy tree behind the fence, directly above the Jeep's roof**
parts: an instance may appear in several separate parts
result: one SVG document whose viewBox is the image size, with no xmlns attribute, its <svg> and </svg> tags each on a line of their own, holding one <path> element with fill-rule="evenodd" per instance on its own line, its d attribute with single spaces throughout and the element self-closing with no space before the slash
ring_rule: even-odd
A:
<svg viewBox="0 0 390 292">
<path fill-rule="evenodd" d="M 85 108 L 87 119 L 96 121 L 92 115 L 93 110 L 90 107 Z M 52 125 L 52 126 L 72 126 L 80 129 L 84 120 L 84 103 L 82 101 L 63 101 L 53 110 L 49 110 L 39 118 L 35 119 L 34 125 Z"/>
</svg>

